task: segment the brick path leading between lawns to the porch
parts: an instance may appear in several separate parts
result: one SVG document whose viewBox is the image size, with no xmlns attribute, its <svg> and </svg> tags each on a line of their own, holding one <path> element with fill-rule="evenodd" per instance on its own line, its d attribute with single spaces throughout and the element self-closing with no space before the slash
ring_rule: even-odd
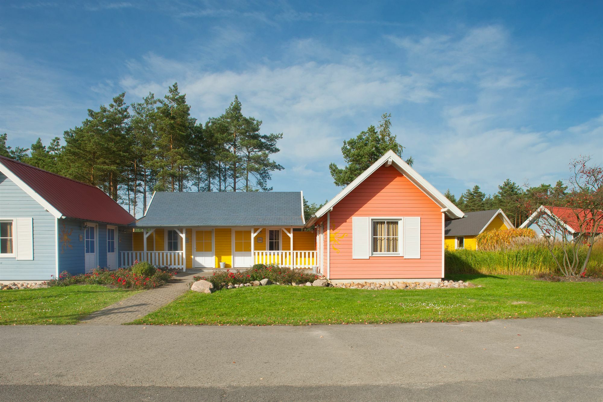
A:
<svg viewBox="0 0 603 402">
<path fill-rule="evenodd" d="M 145 290 L 85 317 L 80 324 L 119 325 L 146 316 L 185 293 L 198 271 L 178 272 L 175 279 L 156 289 Z M 203 275 L 203 274 L 201 274 Z"/>
</svg>

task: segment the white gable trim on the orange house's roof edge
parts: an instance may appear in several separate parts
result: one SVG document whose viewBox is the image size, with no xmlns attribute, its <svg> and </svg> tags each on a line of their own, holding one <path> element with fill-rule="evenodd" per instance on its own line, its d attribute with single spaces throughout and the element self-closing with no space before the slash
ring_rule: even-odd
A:
<svg viewBox="0 0 603 402">
<path fill-rule="evenodd" d="M 449 217 L 464 217 L 465 214 L 463 211 L 461 211 L 456 205 L 450 202 L 449 199 L 444 197 L 444 195 L 440 193 L 440 191 L 438 191 L 434 186 L 432 186 L 431 183 L 423 179 L 423 176 L 418 174 L 417 171 L 411 168 L 406 162 L 402 160 L 402 158 L 397 156 L 396 153 L 392 150 L 386 152 L 385 155 L 379 158 L 377 162 L 374 162 L 374 164 L 372 164 L 371 167 L 369 167 L 367 170 L 362 172 L 360 176 L 356 177 L 356 179 L 353 180 L 352 183 L 347 185 L 346 188 L 339 191 L 339 194 L 337 194 L 335 197 L 333 197 L 332 200 L 327 202 L 323 206 L 323 208 L 318 209 L 318 211 L 314 214 L 314 217 L 320 218 L 322 215 L 326 214 L 327 211 L 333 208 L 333 206 L 335 206 L 339 201 L 343 200 L 344 197 L 347 196 L 347 194 L 349 194 L 352 190 L 358 187 L 360 183 L 364 182 L 365 179 L 367 179 L 371 174 L 373 174 L 378 168 L 380 168 L 384 164 L 387 164 L 388 166 L 394 165 L 394 167 L 396 167 L 396 169 L 399 170 L 400 173 L 408 177 L 408 179 L 411 180 L 411 182 L 415 186 L 420 188 L 423 193 L 425 193 L 429 198 L 434 200 L 434 202 L 437 203 L 440 208 L 448 208 L 446 214 Z"/>
</svg>

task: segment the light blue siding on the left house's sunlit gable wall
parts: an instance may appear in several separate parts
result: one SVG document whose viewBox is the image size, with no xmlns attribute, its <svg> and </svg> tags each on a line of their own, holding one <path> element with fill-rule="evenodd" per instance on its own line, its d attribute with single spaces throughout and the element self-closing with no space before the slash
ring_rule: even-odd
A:
<svg viewBox="0 0 603 402">
<path fill-rule="evenodd" d="M 22 217 L 33 219 L 34 259 L 0 258 L 0 281 L 50 279 L 56 275 L 55 217 L 0 173 L 0 219 Z"/>
</svg>

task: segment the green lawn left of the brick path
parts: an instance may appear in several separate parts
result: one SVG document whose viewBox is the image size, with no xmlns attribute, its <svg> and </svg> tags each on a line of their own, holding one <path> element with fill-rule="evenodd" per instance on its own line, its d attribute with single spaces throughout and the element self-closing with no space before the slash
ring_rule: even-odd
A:
<svg viewBox="0 0 603 402">
<path fill-rule="evenodd" d="M 0 290 L 0 325 L 76 324 L 93 311 L 138 292 L 100 285 Z"/>
</svg>

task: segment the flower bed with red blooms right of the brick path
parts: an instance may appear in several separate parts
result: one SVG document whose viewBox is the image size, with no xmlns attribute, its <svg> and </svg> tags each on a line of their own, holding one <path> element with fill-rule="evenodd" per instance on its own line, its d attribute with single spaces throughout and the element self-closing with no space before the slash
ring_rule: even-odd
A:
<svg viewBox="0 0 603 402">
<path fill-rule="evenodd" d="M 247 284 L 262 279 L 270 279 L 276 284 L 298 284 L 313 282 L 320 276 L 314 273 L 306 273 L 302 270 L 289 269 L 277 265 L 256 264 L 250 269 L 241 271 L 226 270 L 226 272 L 213 272 L 211 276 L 193 276 L 195 281 L 201 279 L 211 282 L 213 289 L 219 290 L 224 287 Z"/>
</svg>

